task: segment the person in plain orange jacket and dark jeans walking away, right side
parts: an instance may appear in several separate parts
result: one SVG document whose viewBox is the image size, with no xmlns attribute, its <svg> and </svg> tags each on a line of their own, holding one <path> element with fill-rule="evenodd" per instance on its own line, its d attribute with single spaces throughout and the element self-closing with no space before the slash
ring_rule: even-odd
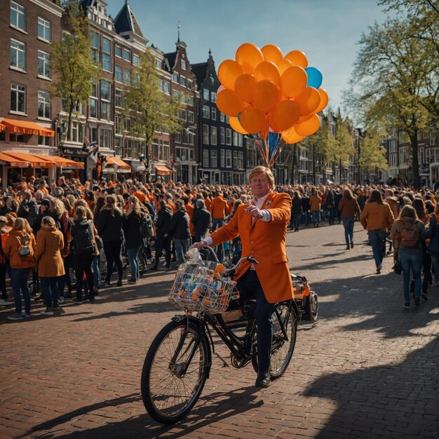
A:
<svg viewBox="0 0 439 439">
<path fill-rule="evenodd" d="M 381 192 L 373 189 L 361 212 L 360 222 L 370 239 L 372 254 L 377 266 L 377 274 L 381 273 L 384 255 L 386 254 L 386 231 L 393 224 L 394 217 L 389 204 L 384 203 Z"/>
</svg>

